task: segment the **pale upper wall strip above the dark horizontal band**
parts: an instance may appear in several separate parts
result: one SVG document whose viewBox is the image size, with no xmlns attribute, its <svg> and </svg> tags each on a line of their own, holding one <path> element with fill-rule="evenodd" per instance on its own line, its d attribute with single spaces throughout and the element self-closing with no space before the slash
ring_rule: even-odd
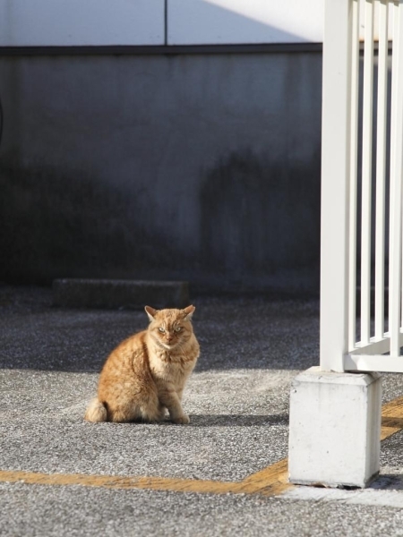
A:
<svg viewBox="0 0 403 537">
<path fill-rule="evenodd" d="M 363 37 L 364 6 L 369 3 L 359 2 Z M 0 47 L 317 43 L 323 40 L 324 4 L 325 0 L 0 0 Z"/>
</svg>

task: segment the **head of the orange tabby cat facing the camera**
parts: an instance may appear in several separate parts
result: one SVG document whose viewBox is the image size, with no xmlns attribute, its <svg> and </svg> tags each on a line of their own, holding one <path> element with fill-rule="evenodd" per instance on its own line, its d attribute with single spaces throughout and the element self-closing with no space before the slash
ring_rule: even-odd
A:
<svg viewBox="0 0 403 537">
<path fill-rule="evenodd" d="M 146 306 L 145 311 L 150 320 L 151 337 L 167 350 L 184 345 L 193 334 L 192 315 L 196 309 L 188 306 L 184 310 L 154 310 Z"/>
</svg>

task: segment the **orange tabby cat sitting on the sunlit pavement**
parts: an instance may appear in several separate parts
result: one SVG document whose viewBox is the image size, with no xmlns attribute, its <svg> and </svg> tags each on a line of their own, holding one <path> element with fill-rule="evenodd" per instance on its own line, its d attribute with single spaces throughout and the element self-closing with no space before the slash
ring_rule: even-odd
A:
<svg viewBox="0 0 403 537">
<path fill-rule="evenodd" d="M 189 423 L 181 405 L 184 383 L 199 357 L 193 334 L 194 306 L 184 310 L 145 311 L 147 330 L 124 340 L 109 355 L 99 376 L 98 397 L 88 422 L 158 422 L 169 411 L 174 423 Z"/>
</svg>

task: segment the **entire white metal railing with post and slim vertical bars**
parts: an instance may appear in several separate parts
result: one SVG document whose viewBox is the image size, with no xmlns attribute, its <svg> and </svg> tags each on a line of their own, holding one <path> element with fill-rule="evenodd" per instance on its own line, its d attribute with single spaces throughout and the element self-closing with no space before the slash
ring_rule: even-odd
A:
<svg viewBox="0 0 403 537">
<path fill-rule="evenodd" d="M 324 371 L 403 372 L 402 182 L 403 0 L 326 0 Z"/>
</svg>

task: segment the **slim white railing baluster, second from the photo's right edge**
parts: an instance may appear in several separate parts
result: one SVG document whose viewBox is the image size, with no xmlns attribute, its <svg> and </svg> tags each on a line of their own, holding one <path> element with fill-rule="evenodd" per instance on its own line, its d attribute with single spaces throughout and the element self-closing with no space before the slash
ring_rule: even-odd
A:
<svg viewBox="0 0 403 537">
<path fill-rule="evenodd" d="M 375 337 L 385 331 L 385 181 L 388 112 L 388 10 L 379 3 L 378 102 L 376 132 Z"/>
</svg>

